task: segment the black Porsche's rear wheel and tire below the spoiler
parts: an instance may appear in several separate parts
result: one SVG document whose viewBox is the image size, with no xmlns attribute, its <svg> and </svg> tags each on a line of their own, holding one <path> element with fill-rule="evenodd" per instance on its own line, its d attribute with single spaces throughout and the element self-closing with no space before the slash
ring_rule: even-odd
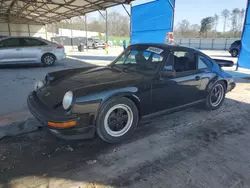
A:
<svg viewBox="0 0 250 188">
<path fill-rule="evenodd" d="M 225 95 L 226 95 L 225 84 L 223 82 L 216 83 L 207 96 L 206 103 L 205 103 L 206 109 L 208 110 L 218 109 L 222 105 L 225 99 Z M 216 101 L 216 96 L 218 96 L 217 101 Z"/>
</svg>

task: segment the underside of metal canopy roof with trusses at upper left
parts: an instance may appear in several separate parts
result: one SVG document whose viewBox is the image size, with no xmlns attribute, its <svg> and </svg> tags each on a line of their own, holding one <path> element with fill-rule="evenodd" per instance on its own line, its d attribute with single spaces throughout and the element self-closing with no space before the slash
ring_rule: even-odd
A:
<svg viewBox="0 0 250 188">
<path fill-rule="evenodd" d="M 0 0 L 0 20 L 46 24 L 128 2 L 129 0 Z"/>
</svg>

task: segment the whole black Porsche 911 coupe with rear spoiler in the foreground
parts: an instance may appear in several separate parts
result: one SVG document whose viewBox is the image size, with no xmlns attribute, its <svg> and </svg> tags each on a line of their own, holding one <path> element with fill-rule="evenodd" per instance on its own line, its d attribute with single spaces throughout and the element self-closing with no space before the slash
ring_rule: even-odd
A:
<svg viewBox="0 0 250 188">
<path fill-rule="evenodd" d="M 141 118 L 203 103 L 221 106 L 232 77 L 202 52 L 181 46 L 129 46 L 106 67 L 48 73 L 28 96 L 31 113 L 57 136 L 123 141 Z"/>
</svg>

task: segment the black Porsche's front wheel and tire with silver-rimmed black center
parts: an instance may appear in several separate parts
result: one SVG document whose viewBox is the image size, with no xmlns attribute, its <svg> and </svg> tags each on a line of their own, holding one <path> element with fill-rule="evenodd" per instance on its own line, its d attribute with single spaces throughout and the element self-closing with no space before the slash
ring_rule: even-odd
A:
<svg viewBox="0 0 250 188">
<path fill-rule="evenodd" d="M 96 132 L 105 142 L 120 143 L 132 135 L 138 120 L 138 109 L 131 100 L 125 97 L 111 99 L 100 110 Z"/>
</svg>

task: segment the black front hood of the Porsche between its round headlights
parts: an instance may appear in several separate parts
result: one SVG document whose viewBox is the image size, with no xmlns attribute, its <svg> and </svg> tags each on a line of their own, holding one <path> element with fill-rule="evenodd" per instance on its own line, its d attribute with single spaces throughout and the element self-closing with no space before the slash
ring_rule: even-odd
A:
<svg viewBox="0 0 250 188">
<path fill-rule="evenodd" d="M 64 73 L 63 73 L 64 74 Z M 58 75 L 57 75 L 58 76 Z M 135 81 L 144 79 L 145 76 L 137 72 L 124 72 L 109 67 L 97 67 L 81 72 L 70 72 L 69 75 L 55 79 L 38 90 L 37 97 L 51 108 L 60 107 L 62 99 L 67 91 L 83 90 L 83 95 L 92 92 L 109 89 L 110 86 L 131 86 Z M 94 89 L 93 89 L 94 88 Z M 86 89 L 86 92 L 84 92 Z"/>
</svg>

